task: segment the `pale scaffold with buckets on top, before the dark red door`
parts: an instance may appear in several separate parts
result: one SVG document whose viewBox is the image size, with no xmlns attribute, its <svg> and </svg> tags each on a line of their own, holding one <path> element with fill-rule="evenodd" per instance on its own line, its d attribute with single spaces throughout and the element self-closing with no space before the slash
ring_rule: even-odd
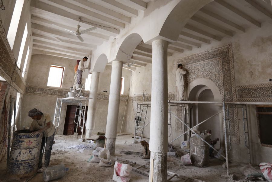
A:
<svg viewBox="0 0 272 182">
<path fill-rule="evenodd" d="M 57 98 L 53 125 L 55 126 L 55 123 L 58 123 L 57 126 L 55 126 L 56 128 L 59 127 L 59 125 L 60 125 L 60 113 L 61 113 L 61 110 L 62 110 L 62 103 L 63 102 L 66 102 L 68 104 L 77 104 L 76 105 L 76 113 L 77 113 L 77 110 L 79 110 L 79 114 L 76 115 L 76 113 L 75 113 L 74 123 L 76 123 L 76 116 L 78 116 L 78 120 L 77 120 L 77 123 L 76 123 L 76 132 L 77 132 L 77 127 L 79 126 L 80 131 L 81 131 L 81 139 L 82 139 L 84 126 L 86 128 L 86 120 L 85 120 L 86 104 L 87 104 L 87 101 L 90 100 L 90 99 L 92 99 L 92 98 L 91 97 Z M 83 104 L 84 104 L 84 106 L 83 106 Z M 60 107 L 59 107 L 59 105 L 60 105 Z M 78 109 L 78 106 L 79 106 L 79 109 Z M 82 108 L 82 106 L 83 106 L 83 108 Z M 82 125 L 81 125 L 81 119 L 83 119 Z"/>
</svg>

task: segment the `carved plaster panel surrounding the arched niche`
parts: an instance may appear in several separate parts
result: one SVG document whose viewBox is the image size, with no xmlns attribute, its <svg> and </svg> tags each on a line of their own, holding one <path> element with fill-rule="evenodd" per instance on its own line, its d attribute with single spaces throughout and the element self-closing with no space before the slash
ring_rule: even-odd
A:
<svg viewBox="0 0 272 182">
<path fill-rule="evenodd" d="M 179 63 L 189 71 L 185 78 L 186 86 L 197 78 L 207 78 L 219 88 L 222 101 L 236 100 L 231 44 L 176 60 L 176 65 Z M 183 107 L 176 107 L 176 114 L 181 120 L 184 118 L 183 112 Z M 231 142 L 239 143 L 237 109 L 230 109 L 229 115 Z M 176 132 L 183 131 L 183 124 L 176 120 Z"/>
</svg>

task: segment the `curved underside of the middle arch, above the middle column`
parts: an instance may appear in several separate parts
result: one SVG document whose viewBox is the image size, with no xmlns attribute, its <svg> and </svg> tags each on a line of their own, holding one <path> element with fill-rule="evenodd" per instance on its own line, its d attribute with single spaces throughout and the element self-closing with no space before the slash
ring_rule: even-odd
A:
<svg viewBox="0 0 272 182">
<path fill-rule="evenodd" d="M 128 35 L 121 43 L 115 59 L 124 63 L 131 62 L 131 56 L 133 55 L 134 49 L 142 40 L 142 37 L 137 33 Z"/>
</svg>

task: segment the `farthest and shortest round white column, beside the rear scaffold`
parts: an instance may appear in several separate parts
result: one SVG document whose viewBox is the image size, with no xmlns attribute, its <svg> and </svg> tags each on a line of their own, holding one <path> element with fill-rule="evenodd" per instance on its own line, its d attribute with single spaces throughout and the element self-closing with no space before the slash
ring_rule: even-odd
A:
<svg viewBox="0 0 272 182">
<path fill-rule="evenodd" d="M 86 120 L 86 138 L 92 136 L 92 130 L 95 127 L 95 113 L 96 113 L 96 103 L 97 103 L 97 90 L 99 83 L 99 72 L 92 72 L 91 85 L 90 85 L 90 94 L 89 97 L 92 99 L 89 100 L 87 120 Z"/>
</svg>

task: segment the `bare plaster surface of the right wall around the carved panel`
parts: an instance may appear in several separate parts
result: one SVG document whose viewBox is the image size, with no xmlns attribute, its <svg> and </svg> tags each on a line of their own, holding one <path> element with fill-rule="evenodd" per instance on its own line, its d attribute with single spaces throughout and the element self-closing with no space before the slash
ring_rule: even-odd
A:
<svg viewBox="0 0 272 182">
<path fill-rule="evenodd" d="M 244 34 L 235 34 L 232 38 L 223 38 L 221 42 L 212 41 L 210 45 L 202 45 L 201 48 L 193 48 L 192 51 L 184 51 L 183 53 L 174 53 L 168 57 L 168 93 L 175 91 L 175 60 L 195 53 L 203 52 L 218 46 L 232 43 L 232 54 L 234 62 L 235 85 L 260 84 L 269 82 L 272 75 L 271 58 L 272 58 L 272 25 L 264 22 L 262 27 L 248 29 Z M 141 94 L 142 90 L 151 93 L 151 64 L 145 68 L 137 68 L 132 74 L 132 89 L 130 95 Z M 150 70 L 150 71 L 149 71 Z M 148 83 L 148 84 L 146 84 Z M 130 86 L 131 87 L 131 86 Z M 132 104 L 129 104 L 128 113 L 126 114 L 126 131 L 134 133 L 134 113 L 132 112 Z M 136 104 L 134 109 L 136 108 Z M 272 148 L 261 146 L 258 138 L 257 120 L 255 107 L 249 107 L 250 115 L 250 137 L 251 137 L 251 156 L 254 164 L 260 162 L 271 162 Z M 240 144 L 232 144 L 230 152 L 232 161 L 248 162 L 247 149 L 244 146 L 243 125 L 241 120 L 241 112 L 239 111 L 239 136 Z M 147 116 L 150 116 L 149 113 Z M 150 117 L 149 117 L 150 119 Z M 179 136 L 181 133 L 175 132 L 175 119 L 172 117 L 172 135 L 169 141 Z M 144 136 L 149 138 L 149 132 L 145 130 Z M 218 134 L 218 131 L 216 131 Z M 216 135 L 217 135 L 216 134 Z M 221 134 L 222 135 L 222 134 Z M 217 136 L 216 136 L 217 137 Z M 219 136 L 218 136 L 219 138 Z M 182 140 L 176 140 L 174 145 L 179 145 Z"/>
</svg>

